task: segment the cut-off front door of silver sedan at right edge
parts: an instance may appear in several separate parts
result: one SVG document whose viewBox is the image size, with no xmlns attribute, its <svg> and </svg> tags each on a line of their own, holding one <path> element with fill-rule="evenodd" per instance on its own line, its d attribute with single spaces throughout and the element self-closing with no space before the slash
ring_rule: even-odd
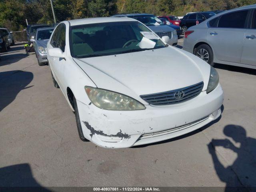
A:
<svg viewBox="0 0 256 192">
<path fill-rule="evenodd" d="M 252 10 L 248 29 L 245 33 L 241 57 L 242 64 L 256 65 L 256 9 Z"/>
</svg>

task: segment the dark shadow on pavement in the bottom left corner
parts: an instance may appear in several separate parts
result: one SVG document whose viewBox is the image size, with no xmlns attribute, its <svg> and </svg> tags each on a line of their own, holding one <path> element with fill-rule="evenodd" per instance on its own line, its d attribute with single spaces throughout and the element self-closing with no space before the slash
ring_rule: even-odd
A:
<svg viewBox="0 0 256 192">
<path fill-rule="evenodd" d="M 35 180 L 27 163 L 0 168 L 0 181 L 0 191 L 50 192 Z"/>
</svg>

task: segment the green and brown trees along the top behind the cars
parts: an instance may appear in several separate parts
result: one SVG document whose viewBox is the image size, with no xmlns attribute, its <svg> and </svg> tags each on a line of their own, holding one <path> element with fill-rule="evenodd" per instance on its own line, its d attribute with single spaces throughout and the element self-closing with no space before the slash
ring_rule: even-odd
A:
<svg viewBox="0 0 256 192">
<path fill-rule="evenodd" d="M 229 10 L 256 4 L 256 0 L 53 0 L 58 22 L 118 13 L 151 13 L 183 16 L 187 12 Z M 1 0 L 0 26 L 10 30 L 29 24 L 52 24 L 50 0 Z"/>
</svg>

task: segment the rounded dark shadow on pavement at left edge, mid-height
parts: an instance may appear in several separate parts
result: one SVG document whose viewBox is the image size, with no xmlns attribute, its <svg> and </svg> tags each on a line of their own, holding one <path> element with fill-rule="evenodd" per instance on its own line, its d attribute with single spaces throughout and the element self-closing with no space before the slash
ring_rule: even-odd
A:
<svg viewBox="0 0 256 192">
<path fill-rule="evenodd" d="M 27 71 L 0 72 L 0 112 L 14 101 L 21 90 L 32 87 L 28 86 L 28 84 L 33 78 L 32 72 Z"/>
</svg>

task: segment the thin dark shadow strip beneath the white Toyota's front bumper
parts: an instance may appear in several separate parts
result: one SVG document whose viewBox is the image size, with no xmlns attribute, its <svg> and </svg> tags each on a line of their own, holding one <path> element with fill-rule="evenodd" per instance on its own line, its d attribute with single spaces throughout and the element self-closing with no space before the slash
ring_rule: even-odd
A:
<svg viewBox="0 0 256 192">
<path fill-rule="evenodd" d="M 221 112 L 223 112 L 224 105 L 222 105 L 220 109 L 221 109 Z M 173 142 L 173 141 L 176 141 L 176 140 L 180 140 L 180 139 L 192 136 L 194 134 L 202 132 L 203 130 L 205 130 L 208 127 L 212 126 L 213 124 L 217 123 L 221 119 L 221 117 L 222 117 L 222 115 L 220 115 L 216 120 L 213 120 L 212 122 L 206 124 L 205 126 L 199 128 L 197 130 L 194 130 L 194 131 L 192 131 L 190 133 L 187 133 L 187 134 L 175 137 L 175 138 L 171 138 L 171 139 L 168 139 L 168 140 L 164 140 L 164 141 L 159 141 L 159 142 L 149 143 L 149 144 L 144 144 L 144 145 L 138 145 L 138 146 L 132 146 L 131 148 L 143 148 L 143 147 L 152 146 L 152 145 L 164 144 L 164 143 Z"/>
</svg>

